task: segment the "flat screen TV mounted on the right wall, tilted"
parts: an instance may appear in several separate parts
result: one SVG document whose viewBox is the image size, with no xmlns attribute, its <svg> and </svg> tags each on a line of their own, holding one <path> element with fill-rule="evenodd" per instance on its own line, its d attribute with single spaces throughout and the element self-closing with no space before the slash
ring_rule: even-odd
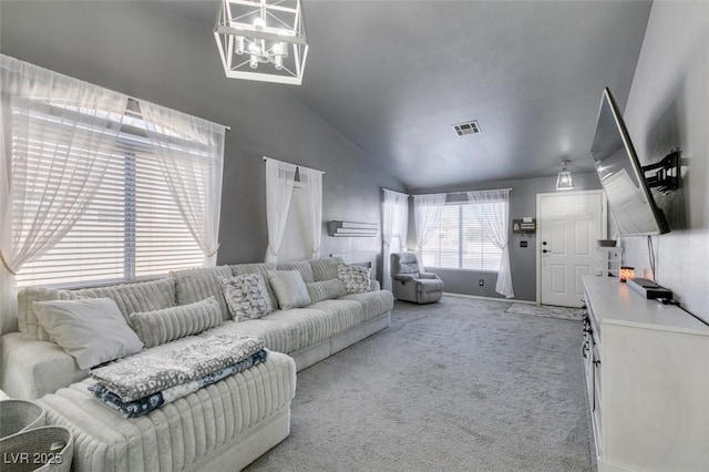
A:
<svg viewBox="0 0 709 472">
<path fill-rule="evenodd" d="M 603 91 L 590 153 L 618 236 L 669 233 L 665 214 L 655 204 L 620 111 L 608 89 Z"/>
</svg>

